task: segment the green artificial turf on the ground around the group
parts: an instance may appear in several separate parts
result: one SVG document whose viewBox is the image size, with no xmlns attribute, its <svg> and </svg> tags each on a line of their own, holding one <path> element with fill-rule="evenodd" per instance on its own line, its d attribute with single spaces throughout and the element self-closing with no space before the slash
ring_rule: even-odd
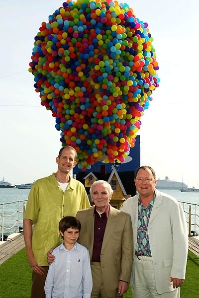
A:
<svg viewBox="0 0 199 298">
<path fill-rule="evenodd" d="M 181 298 L 199 298 L 199 257 L 189 251 Z M 29 298 L 32 270 L 25 248 L 0 265 L 0 298 Z M 132 298 L 130 287 L 123 298 Z"/>
</svg>

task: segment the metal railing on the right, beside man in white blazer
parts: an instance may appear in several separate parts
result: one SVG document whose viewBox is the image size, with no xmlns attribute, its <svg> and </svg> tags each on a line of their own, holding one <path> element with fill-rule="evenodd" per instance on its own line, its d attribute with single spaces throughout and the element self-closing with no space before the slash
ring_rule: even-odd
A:
<svg viewBox="0 0 199 298">
<path fill-rule="evenodd" d="M 185 214 L 187 215 L 186 218 L 188 218 L 187 223 L 189 226 L 189 236 L 196 236 L 197 235 L 197 227 L 199 229 L 199 215 L 197 214 L 197 209 L 199 210 L 199 204 L 193 204 L 189 202 L 182 202 L 183 204 L 183 210 Z M 194 208 L 192 208 L 194 207 Z M 192 210 L 194 209 L 194 213 L 192 213 Z M 198 211 L 199 212 L 199 211 Z M 198 223 L 197 223 L 198 222 Z M 194 228 L 192 228 L 194 226 Z"/>
</svg>

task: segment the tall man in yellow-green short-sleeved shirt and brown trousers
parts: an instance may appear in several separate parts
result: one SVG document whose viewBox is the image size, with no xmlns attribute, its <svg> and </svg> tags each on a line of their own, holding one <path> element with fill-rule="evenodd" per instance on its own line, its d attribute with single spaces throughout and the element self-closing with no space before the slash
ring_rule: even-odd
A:
<svg viewBox="0 0 199 298">
<path fill-rule="evenodd" d="M 76 150 L 62 147 L 56 158 L 56 173 L 34 182 L 23 220 L 24 240 L 32 272 L 30 298 L 45 298 L 44 284 L 48 272 L 46 254 L 51 247 L 61 243 L 57 226 L 61 218 L 76 216 L 90 207 L 84 185 L 70 176 L 77 164 Z M 32 229 L 32 224 L 34 228 Z"/>
</svg>

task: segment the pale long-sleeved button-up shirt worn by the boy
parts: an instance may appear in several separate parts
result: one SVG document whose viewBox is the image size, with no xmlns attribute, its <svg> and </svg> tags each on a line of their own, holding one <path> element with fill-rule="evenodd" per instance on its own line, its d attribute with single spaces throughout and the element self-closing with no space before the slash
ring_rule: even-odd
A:
<svg viewBox="0 0 199 298">
<path fill-rule="evenodd" d="M 71 250 L 60 244 L 53 250 L 45 282 L 46 298 L 91 298 L 93 287 L 88 249 L 75 243 Z"/>
</svg>

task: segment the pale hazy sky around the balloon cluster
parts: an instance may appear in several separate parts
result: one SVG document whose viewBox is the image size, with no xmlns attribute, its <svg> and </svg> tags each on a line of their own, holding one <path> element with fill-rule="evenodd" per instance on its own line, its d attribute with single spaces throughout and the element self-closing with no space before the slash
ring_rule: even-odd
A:
<svg viewBox="0 0 199 298">
<path fill-rule="evenodd" d="M 147 22 L 160 86 L 141 117 L 141 165 L 199 188 L 199 1 L 126 0 Z M 30 183 L 57 170 L 55 118 L 28 72 L 34 37 L 60 0 L 0 0 L 0 180 Z"/>
</svg>

